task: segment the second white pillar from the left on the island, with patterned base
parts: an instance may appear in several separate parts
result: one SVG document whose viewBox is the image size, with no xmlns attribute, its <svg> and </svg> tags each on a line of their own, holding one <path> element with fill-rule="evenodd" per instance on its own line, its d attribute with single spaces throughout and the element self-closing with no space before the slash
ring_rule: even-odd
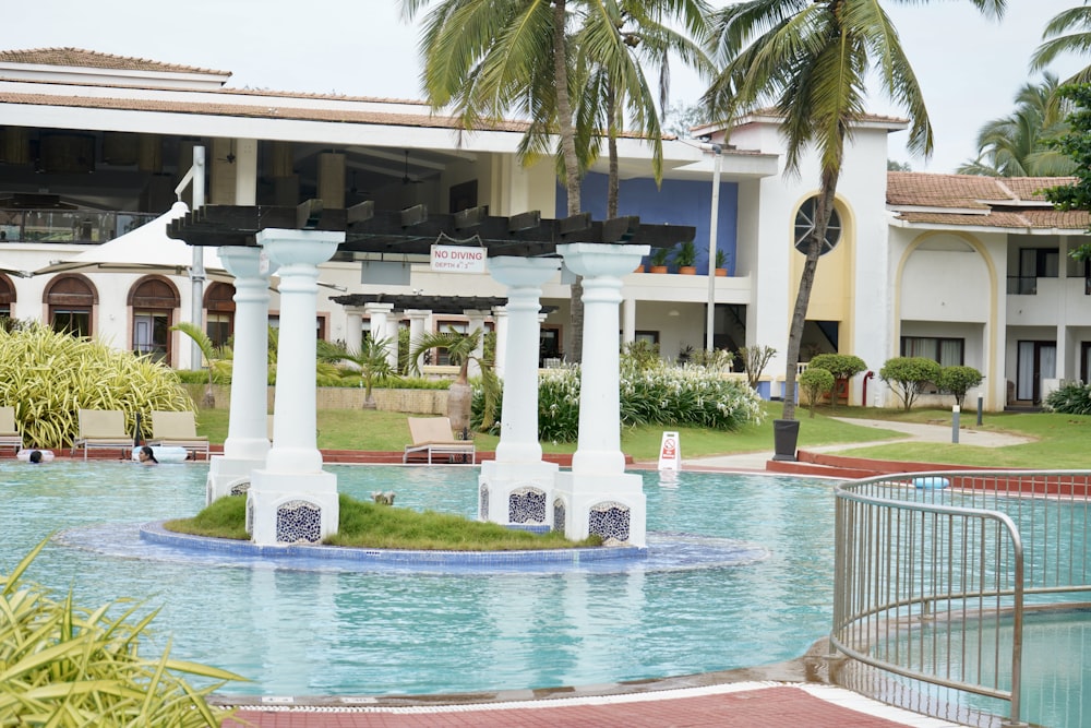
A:
<svg viewBox="0 0 1091 728">
<path fill-rule="evenodd" d="M 255 470 L 247 523 L 255 544 L 319 542 L 337 533 L 337 477 L 322 469 L 315 410 L 314 321 L 319 264 L 344 232 L 267 228 L 257 242 L 279 265 L 280 333 L 277 349 L 273 446 Z"/>
</svg>

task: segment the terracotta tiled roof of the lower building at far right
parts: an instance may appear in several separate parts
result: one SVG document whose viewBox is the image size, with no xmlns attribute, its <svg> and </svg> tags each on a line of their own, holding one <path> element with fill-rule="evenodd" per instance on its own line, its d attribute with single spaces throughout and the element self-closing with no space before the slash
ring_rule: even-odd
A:
<svg viewBox="0 0 1091 728">
<path fill-rule="evenodd" d="M 1091 215 L 1054 210 L 1042 190 L 1072 177 L 982 177 L 887 172 L 887 205 L 907 223 L 1086 230 Z M 933 208 L 930 212 L 914 208 Z M 945 213 L 959 210 L 959 213 Z M 968 211 L 980 211 L 980 214 Z"/>
</svg>

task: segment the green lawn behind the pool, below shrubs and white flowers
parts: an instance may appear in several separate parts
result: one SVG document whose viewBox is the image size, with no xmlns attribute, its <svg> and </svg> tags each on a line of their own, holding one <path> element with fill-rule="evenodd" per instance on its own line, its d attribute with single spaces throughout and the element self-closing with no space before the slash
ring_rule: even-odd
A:
<svg viewBox="0 0 1091 728">
<path fill-rule="evenodd" d="M 684 457 L 731 455 L 772 450 L 772 420 L 780 416 L 779 403 L 766 403 L 766 418 L 762 425 L 751 425 L 735 432 L 680 428 L 679 435 Z M 950 426 L 949 409 L 880 409 L 874 407 L 838 407 L 830 411 L 819 407 L 814 418 L 805 408 L 796 410 L 800 420 L 800 447 L 818 445 L 873 443 L 876 440 L 903 437 L 895 430 L 862 427 L 842 422 L 838 418 L 880 419 L 892 422 L 924 422 Z M 214 443 L 227 437 L 227 409 L 202 410 L 199 431 Z M 976 413 L 963 411 L 963 428 L 1010 432 L 1034 441 L 1008 447 L 979 447 L 971 444 L 891 443 L 862 445 L 844 451 L 858 457 L 894 461 L 978 465 L 981 467 L 1019 468 L 1081 468 L 1088 465 L 1087 443 L 1091 438 L 1091 417 L 1081 415 L 985 413 L 983 423 L 976 426 Z M 408 415 L 373 409 L 329 409 L 317 413 L 317 444 L 323 450 L 364 450 L 401 452 L 410 441 Z M 622 431 L 621 447 L 637 461 L 654 461 L 659 456 L 661 427 L 626 428 Z M 495 450 L 499 439 L 475 434 L 480 451 Z M 543 442 L 547 453 L 574 453 L 576 443 Z"/>
</svg>

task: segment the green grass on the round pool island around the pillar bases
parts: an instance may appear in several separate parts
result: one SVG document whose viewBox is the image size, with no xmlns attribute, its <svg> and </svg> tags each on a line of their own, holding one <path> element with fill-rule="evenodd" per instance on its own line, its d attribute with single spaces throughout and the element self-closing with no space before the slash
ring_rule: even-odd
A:
<svg viewBox="0 0 1091 728">
<path fill-rule="evenodd" d="M 332 546 L 372 549 L 443 551 L 513 551 L 599 546 L 597 537 L 570 541 L 563 534 L 531 534 L 495 523 L 469 521 L 458 515 L 377 505 L 344 493 L 338 500 L 340 518 Z M 164 527 L 183 534 L 245 540 L 247 499 L 220 498 L 192 518 L 168 521 Z"/>
</svg>

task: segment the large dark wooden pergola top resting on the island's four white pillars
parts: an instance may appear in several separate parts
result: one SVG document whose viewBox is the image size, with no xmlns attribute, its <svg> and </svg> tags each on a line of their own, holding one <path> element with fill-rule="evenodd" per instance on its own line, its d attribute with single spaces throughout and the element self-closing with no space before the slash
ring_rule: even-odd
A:
<svg viewBox="0 0 1091 728">
<path fill-rule="evenodd" d="M 543 219 L 540 212 L 509 217 L 489 215 L 487 207 L 454 214 L 429 213 L 423 205 L 400 211 L 376 211 L 373 202 L 325 210 L 321 200 L 297 207 L 271 205 L 204 205 L 171 220 L 167 235 L 191 246 L 255 246 L 266 228 L 345 232 L 341 253 L 428 255 L 436 241 L 472 244 L 490 256 L 540 256 L 556 253 L 568 242 L 604 242 L 670 248 L 693 240 L 696 228 L 647 225 L 637 216 L 594 220 L 590 213 Z"/>
</svg>

